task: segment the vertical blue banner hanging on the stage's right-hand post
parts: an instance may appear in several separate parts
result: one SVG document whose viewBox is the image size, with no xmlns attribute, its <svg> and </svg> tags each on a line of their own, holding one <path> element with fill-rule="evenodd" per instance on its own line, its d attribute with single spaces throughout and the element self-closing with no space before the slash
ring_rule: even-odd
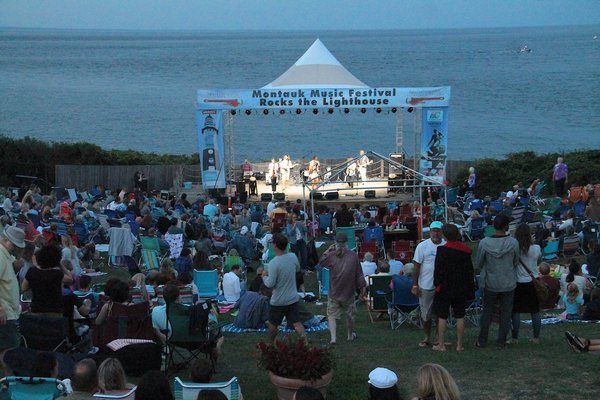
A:
<svg viewBox="0 0 600 400">
<path fill-rule="evenodd" d="M 425 107 L 422 111 L 419 172 L 443 183 L 448 157 L 448 107 Z"/>
</svg>

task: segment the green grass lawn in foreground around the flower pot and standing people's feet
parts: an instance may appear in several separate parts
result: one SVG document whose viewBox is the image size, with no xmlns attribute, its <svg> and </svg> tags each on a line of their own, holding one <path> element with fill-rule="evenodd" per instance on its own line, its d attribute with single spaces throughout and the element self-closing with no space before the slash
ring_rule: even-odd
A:
<svg viewBox="0 0 600 400">
<path fill-rule="evenodd" d="M 108 276 L 126 278 L 126 271 L 108 269 Z M 103 277 L 105 278 L 105 277 Z M 315 274 L 306 277 L 306 290 L 317 292 Z M 308 305 L 314 314 L 326 314 L 326 305 Z M 526 315 L 523 318 L 527 318 Z M 230 315 L 221 315 L 220 321 L 229 321 Z M 366 399 L 367 376 L 376 367 L 396 372 L 404 398 L 416 393 L 416 371 L 425 363 L 446 367 L 456 379 L 463 399 L 596 399 L 600 397 L 600 353 L 578 354 L 567 346 L 564 331 L 570 330 L 583 337 L 600 338 L 600 325 L 562 323 L 542 326 L 541 343 L 529 342 L 531 326 L 522 324 L 517 345 L 505 350 L 495 348 L 497 325 L 490 330 L 489 345 L 474 347 L 478 328 L 466 323 L 466 351 L 454 351 L 454 332 L 449 329 L 446 340 L 453 342 L 446 353 L 419 348 L 422 333 L 413 326 L 403 325 L 392 330 L 389 320 L 383 318 L 371 323 L 364 304 L 358 309 L 356 332 L 358 339 L 346 342 L 345 323 L 338 328 L 335 347 L 336 363 L 333 381 L 328 388 L 328 399 Z M 275 389 L 265 370 L 257 366 L 256 344 L 266 340 L 266 334 L 225 333 L 223 354 L 217 363 L 215 380 L 237 376 L 244 398 L 275 399 Z M 282 336 L 280 335 L 280 338 Z M 326 346 L 329 332 L 308 334 L 311 345 Z M 179 376 L 187 378 L 187 371 Z"/>
</svg>

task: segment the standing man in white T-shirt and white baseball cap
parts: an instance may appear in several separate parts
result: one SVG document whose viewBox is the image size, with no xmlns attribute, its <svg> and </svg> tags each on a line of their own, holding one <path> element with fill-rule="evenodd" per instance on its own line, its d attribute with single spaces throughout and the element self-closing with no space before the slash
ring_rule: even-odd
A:
<svg viewBox="0 0 600 400">
<path fill-rule="evenodd" d="M 419 296 L 421 320 L 423 321 L 423 331 L 425 331 L 425 338 L 419 343 L 419 347 L 427 347 L 431 344 L 431 306 L 435 295 L 435 286 L 433 285 L 435 256 L 438 246 L 445 243 L 442 239 L 442 223 L 433 221 L 429 225 L 429 239 L 419 243 L 415 249 L 412 293 Z"/>
</svg>

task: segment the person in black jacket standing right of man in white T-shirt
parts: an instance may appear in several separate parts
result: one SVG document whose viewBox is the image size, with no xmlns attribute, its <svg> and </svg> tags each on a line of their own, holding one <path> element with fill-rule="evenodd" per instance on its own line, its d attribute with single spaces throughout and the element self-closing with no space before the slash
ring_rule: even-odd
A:
<svg viewBox="0 0 600 400">
<path fill-rule="evenodd" d="M 463 351 L 467 299 L 475 292 L 471 249 L 460 241 L 460 231 L 453 224 L 442 226 L 446 244 L 438 247 L 435 257 L 433 313 L 438 317 L 438 339 L 433 350 L 446 351 L 444 335 L 449 309 L 456 319 L 456 351 Z"/>
</svg>

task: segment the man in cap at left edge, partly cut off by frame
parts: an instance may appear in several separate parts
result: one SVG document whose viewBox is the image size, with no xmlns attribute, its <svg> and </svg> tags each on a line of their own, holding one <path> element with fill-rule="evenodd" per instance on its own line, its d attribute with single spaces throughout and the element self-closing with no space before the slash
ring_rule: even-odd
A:
<svg viewBox="0 0 600 400">
<path fill-rule="evenodd" d="M 0 363 L 4 367 L 4 353 L 19 345 L 19 282 L 13 268 L 14 253 L 25 247 L 25 232 L 8 226 L 0 233 Z"/>
</svg>

